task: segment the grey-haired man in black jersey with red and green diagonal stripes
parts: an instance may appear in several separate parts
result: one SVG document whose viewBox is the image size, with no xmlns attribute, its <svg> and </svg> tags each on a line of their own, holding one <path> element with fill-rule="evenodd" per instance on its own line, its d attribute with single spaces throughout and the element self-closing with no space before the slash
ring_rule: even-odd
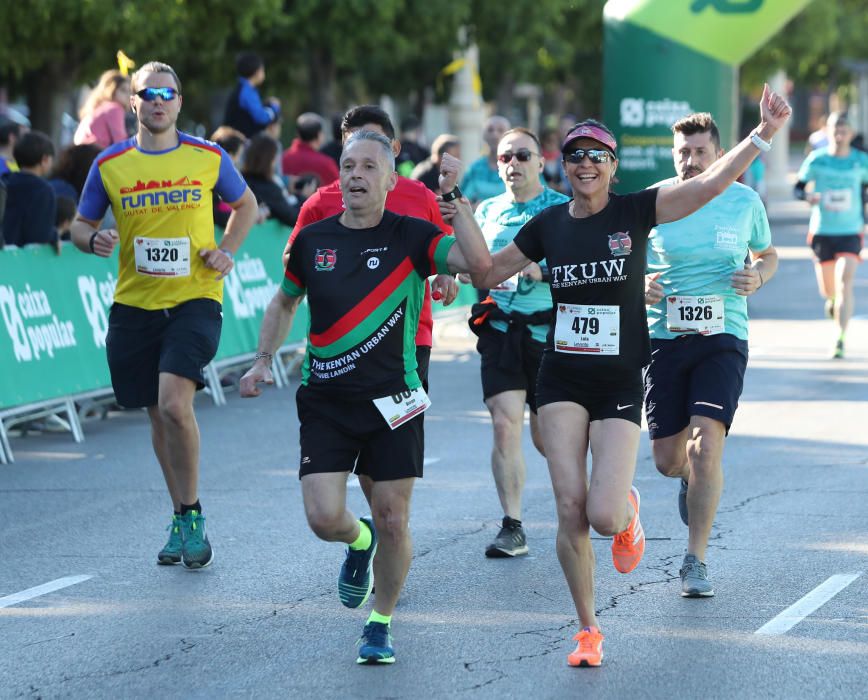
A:
<svg viewBox="0 0 868 700">
<path fill-rule="evenodd" d="M 491 265 L 470 204 L 455 187 L 459 168 L 448 154 L 440 164 L 444 198 L 460 202 L 453 238 L 430 222 L 385 212 L 397 178 L 388 138 L 359 131 L 347 139 L 340 166 L 346 208 L 298 234 L 262 322 L 256 362 L 241 380 L 243 396 L 258 395 L 256 384 L 272 380 L 272 353 L 307 295 L 307 355 L 296 396 L 299 476 L 311 529 L 320 539 L 348 545 L 338 578 L 345 606 L 358 608 L 368 599 L 373 562 L 376 603 L 358 663 L 395 660 L 390 622 L 412 558 L 410 495 L 422 476 L 422 412 L 430 405 L 415 348 L 425 280 L 437 273 L 484 273 Z M 363 451 L 370 459 L 357 465 Z M 347 510 L 354 467 L 373 482 L 372 518 L 357 519 Z"/>
</svg>

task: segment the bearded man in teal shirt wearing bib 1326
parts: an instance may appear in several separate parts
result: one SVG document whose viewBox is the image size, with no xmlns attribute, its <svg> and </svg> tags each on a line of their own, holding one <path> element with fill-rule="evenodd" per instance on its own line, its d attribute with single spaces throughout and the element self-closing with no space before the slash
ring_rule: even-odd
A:
<svg viewBox="0 0 868 700">
<path fill-rule="evenodd" d="M 672 132 L 678 176 L 659 187 L 694 177 L 723 155 L 708 113 L 684 117 Z M 747 367 L 746 297 L 777 266 L 765 208 L 738 183 L 648 238 L 645 415 L 657 469 L 681 479 L 678 506 L 689 531 L 681 567 L 685 597 L 714 595 L 704 558 L 723 490 L 723 443 Z"/>
</svg>

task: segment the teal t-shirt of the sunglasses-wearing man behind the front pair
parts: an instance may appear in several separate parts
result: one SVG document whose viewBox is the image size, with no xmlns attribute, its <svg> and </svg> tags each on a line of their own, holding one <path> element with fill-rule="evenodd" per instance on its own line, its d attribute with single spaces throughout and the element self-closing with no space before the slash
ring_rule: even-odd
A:
<svg viewBox="0 0 868 700">
<path fill-rule="evenodd" d="M 549 188 L 529 202 L 516 202 L 510 192 L 486 199 L 476 209 L 476 221 L 485 236 L 485 242 L 492 253 L 502 250 L 512 243 L 515 234 L 543 209 L 569 201 L 569 197 Z M 545 262 L 540 263 L 545 266 Z M 547 282 L 535 282 L 527 277 L 519 277 L 515 291 L 491 290 L 491 298 L 498 308 L 507 313 L 533 314 L 552 308 L 552 294 Z M 506 323 L 491 321 L 492 328 L 506 332 Z M 534 340 L 544 343 L 548 325 L 528 326 Z"/>
</svg>

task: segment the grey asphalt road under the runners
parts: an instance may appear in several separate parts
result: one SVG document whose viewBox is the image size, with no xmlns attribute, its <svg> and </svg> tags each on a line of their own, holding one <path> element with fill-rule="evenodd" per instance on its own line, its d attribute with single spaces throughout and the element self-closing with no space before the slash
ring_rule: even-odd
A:
<svg viewBox="0 0 868 700">
<path fill-rule="evenodd" d="M 293 391 L 271 390 L 197 402 L 216 550 L 200 572 L 155 565 L 168 504 L 143 413 L 86 424 L 83 444 L 13 438 L 17 461 L 0 467 L 0 697 L 865 697 L 868 272 L 848 358 L 829 360 L 806 217 L 798 205 L 773 213 L 781 269 L 751 300 L 751 362 L 707 557 L 716 597 L 679 595 L 677 482 L 657 474 L 643 436 L 645 558 L 620 575 L 609 540 L 595 540 L 606 657 L 568 668 L 577 621 L 545 463 L 527 451 L 530 555 L 485 559 L 501 514 L 478 359 L 460 325 L 440 324 L 394 666 L 354 663 L 367 612 L 337 600 L 341 547 L 304 521 Z M 364 512 L 358 488 L 350 502 Z M 840 590 L 818 605 L 829 579 Z M 57 580 L 65 587 L 10 598 Z M 789 629 L 756 633 L 805 597 Z"/>
</svg>

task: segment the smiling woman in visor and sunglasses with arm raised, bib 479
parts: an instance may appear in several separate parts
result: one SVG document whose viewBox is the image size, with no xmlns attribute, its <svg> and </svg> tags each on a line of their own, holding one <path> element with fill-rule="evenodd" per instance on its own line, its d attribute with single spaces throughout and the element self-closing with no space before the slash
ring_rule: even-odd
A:
<svg viewBox="0 0 868 700">
<path fill-rule="evenodd" d="M 618 167 L 612 132 L 591 119 L 576 124 L 561 146 L 572 200 L 525 224 L 492 256 L 490 272 L 473 279 L 491 288 L 532 261 L 548 263 L 555 320 L 539 369 L 537 406 L 558 514 L 558 559 L 581 626 L 567 657 L 571 666 L 599 666 L 603 657 L 590 528 L 613 536 L 612 560 L 621 573 L 636 568 L 645 550 L 632 481 L 641 372 L 650 360 L 643 296 L 648 233 L 723 192 L 768 148 L 790 112 L 765 86 L 759 126 L 714 167 L 673 187 L 626 195 L 610 191 Z"/>
</svg>

